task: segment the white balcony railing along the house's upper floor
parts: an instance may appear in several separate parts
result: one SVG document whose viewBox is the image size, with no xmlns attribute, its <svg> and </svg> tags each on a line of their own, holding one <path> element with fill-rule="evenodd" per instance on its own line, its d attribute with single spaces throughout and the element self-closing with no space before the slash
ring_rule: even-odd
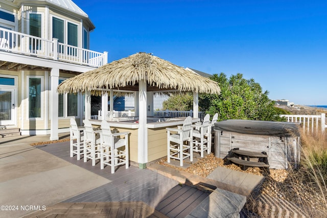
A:
<svg viewBox="0 0 327 218">
<path fill-rule="evenodd" d="M 107 63 L 107 52 L 81 47 L 0 28 L 0 50 L 45 59 L 99 67 Z"/>
</svg>

